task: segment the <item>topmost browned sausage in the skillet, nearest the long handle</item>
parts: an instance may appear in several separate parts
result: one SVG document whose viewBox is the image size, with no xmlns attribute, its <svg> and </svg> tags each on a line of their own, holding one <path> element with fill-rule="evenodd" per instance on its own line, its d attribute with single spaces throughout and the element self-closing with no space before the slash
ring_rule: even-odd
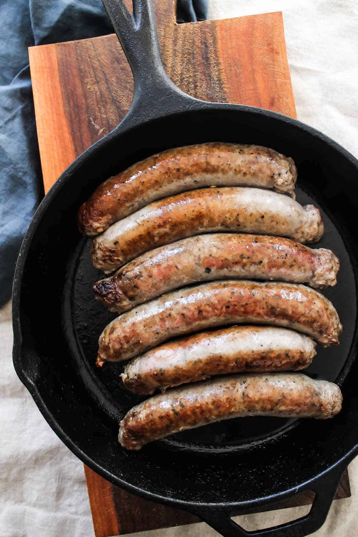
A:
<svg viewBox="0 0 358 537">
<path fill-rule="evenodd" d="M 101 184 L 79 209 L 78 227 L 98 235 L 152 201 L 203 186 L 258 186 L 294 197 L 294 161 L 273 149 L 202 143 L 169 149 Z"/>
</svg>

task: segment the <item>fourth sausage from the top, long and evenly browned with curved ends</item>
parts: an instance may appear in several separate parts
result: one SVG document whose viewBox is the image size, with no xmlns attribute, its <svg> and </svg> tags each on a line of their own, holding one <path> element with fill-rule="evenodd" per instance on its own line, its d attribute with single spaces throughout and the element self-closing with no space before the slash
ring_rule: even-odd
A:
<svg viewBox="0 0 358 537">
<path fill-rule="evenodd" d="M 224 324 L 273 324 L 338 344 L 333 304 L 315 289 L 282 282 L 214 281 L 180 289 L 126 311 L 99 338 L 97 365 L 122 361 L 174 336 Z"/>
</svg>

